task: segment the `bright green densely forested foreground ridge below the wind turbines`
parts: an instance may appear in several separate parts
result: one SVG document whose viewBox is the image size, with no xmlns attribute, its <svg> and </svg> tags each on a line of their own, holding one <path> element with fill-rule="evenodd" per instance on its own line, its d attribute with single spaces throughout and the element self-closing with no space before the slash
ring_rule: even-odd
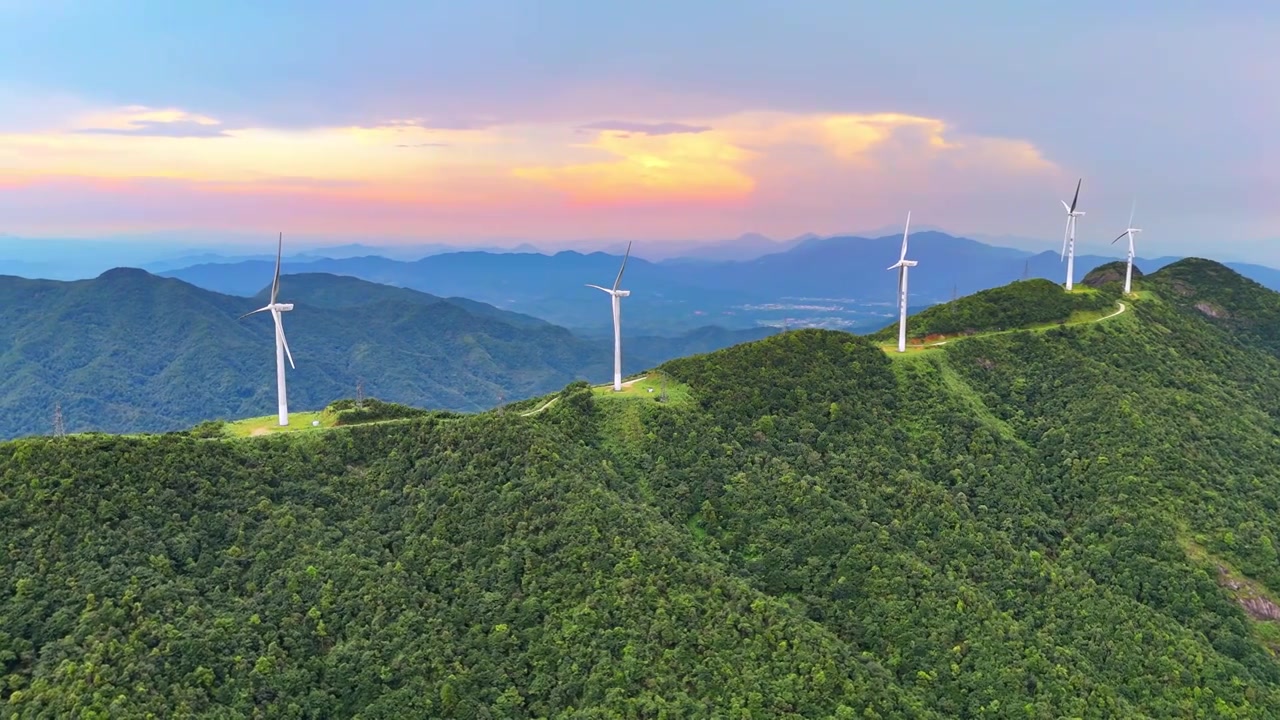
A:
<svg viewBox="0 0 1280 720">
<path fill-rule="evenodd" d="M 1280 302 L 1135 290 L 905 355 L 790 332 L 666 402 L 0 445 L 0 708 L 1280 716 Z"/>
</svg>

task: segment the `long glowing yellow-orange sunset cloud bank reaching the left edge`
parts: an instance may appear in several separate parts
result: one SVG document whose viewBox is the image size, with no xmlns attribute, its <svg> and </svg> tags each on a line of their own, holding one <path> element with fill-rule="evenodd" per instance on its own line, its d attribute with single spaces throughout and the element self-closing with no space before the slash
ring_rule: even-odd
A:
<svg viewBox="0 0 1280 720">
<path fill-rule="evenodd" d="M 662 222 L 689 232 L 713 222 L 730 232 L 767 229 L 769 218 L 782 217 L 803 232 L 855 211 L 896 215 L 896 199 L 883 208 L 876 199 L 927 192 L 929 181 L 1000 193 L 1059 173 L 1027 141 L 964 135 L 942 119 L 901 113 L 582 118 L 484 129 L 388 120 L 285 131 L 142 106 L 78 110 L 46 129 L 0 133 L 0 187 L 138 181 L 122 191 L 125 199 L 180 182 L 178 209 L 200 197 L 200 206 L 242 209 L 236 218 L 305 206 L 321 225 L 335 214 L 372 224 L 394 213 L 397 222 L 426 224 L 448 215 L 461 227 L 468 214 L 484 229 L 499 215 L 515 223 L 552 208 L 556 223 L 576 217 L 584 232 L 602 233 L 617 232 L 609 223 L 621 218 L 657 227 L 645 210 L 654 204 L 682 205 Z"/>
</svg>

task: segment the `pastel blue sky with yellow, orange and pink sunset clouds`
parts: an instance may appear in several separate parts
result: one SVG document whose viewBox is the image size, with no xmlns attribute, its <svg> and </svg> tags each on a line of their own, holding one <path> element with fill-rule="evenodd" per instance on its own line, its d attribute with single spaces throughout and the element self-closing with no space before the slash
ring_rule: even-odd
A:
<svg viewBox="0 0 1280 720">
<path fill-rule="evenodd" d="M 1280 5 L 0 0 L 0 233 L 913 222 L 1280 263 Z M 207 245 L 207 243 L 205 243 Z M 1149 246 L 1158 246 L 1149 247 Z"/>
</svg>

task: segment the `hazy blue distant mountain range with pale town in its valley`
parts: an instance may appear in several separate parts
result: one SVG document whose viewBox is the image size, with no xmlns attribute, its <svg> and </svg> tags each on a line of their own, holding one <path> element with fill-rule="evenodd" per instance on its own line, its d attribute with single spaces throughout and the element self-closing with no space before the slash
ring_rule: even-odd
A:
<svg viewBox="0 0 1280 720">
<path fill-rule="evenodd" d="M 901 236 L 797 238 L 785 251 L 751 260 L 678 258 L 649 261 L 632 256 L 623 286 L 630 327 L 667 334 L 694 327 L 826 325 L 874 329 L 892 322 L 896 260 Z M 925 231 L 911 234 L 911 305 L 927 306 L 1005 284 L 1048 278 L 1065 281 L 1056 252 L 1033 254 Z M 1076 256 L 1075 279 L 1117 256 Z M 1138 259 L 1153 272 L 1179 258 Z M 381 256 L 325 258 L 284 263 L 284 273 L 333 273 L 461 296 L 543 318 L 579 332 L 604 332 L 608 304 L 585 283 L 608 284 L 622 258 L 607 252 L 444 252 L 420 260 Z M 1229 263 L 1258 283 L 1280 290 L 1280 270 Z M 269 260 L 202 263 L 160 273 L 229 295 L 253 295 L 271 274 Z M 287 286 L 285 286 L 287 287 Z"/>
</svg>

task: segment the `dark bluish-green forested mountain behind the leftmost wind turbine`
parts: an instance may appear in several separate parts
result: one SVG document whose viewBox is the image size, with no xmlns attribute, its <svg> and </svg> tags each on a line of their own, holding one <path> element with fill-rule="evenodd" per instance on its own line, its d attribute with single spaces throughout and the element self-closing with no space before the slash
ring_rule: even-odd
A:
<svg viewBox="0 0 1280 720">
<path fill-rule="evenodd" d="M 485 410 L 613 372 L 611 341 L 465 299 L 323 274 L 287 275 L 282 301 L 297 369 L 289 405 L 317 410 L 367 392 L 422 407 Z M 265 304 L 120 268 L 92 281 L 0 278 L 0 437 L 68 430 L 170 430 L 275 409 Z M 625 338 L 626 370 L 769 331 L 709 328 Z M 716 345 L 718 343 L 718 345 Z"/>
</svg>

